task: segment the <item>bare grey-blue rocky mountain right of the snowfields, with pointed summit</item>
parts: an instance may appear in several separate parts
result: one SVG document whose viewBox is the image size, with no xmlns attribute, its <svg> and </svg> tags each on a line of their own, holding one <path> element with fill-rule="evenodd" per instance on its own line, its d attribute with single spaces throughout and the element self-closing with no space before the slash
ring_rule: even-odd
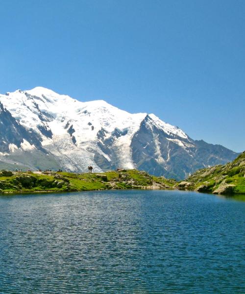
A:
<svg viewBox="0 0 245 294">
<path fill-rule="evenodd" d="M 220 145 L 194 141 L 183 133 L 166 132 L 147 116 L 132 139 L 132 156 L 139 170 L 183 179 L 207 166 L 233 160 L 235 153 Z"/>
</svg>

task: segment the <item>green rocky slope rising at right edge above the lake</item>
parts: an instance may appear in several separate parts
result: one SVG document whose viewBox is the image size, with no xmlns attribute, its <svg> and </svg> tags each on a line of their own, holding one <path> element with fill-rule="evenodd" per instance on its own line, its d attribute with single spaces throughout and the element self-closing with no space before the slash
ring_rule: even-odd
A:
<svg viewBox="0 0 245 294">
<path fill-rule="evenodd" d="M 234 161 L 193 173 L 178 186 L 214 194 L 245 194 L 245 151 Z"/>
</svg>

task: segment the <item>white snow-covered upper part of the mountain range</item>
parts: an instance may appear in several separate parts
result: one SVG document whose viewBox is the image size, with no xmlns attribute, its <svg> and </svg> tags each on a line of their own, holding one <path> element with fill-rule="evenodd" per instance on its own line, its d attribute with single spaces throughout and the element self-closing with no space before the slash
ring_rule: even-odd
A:
<svg viewBox="0 0 245 294">
<path fill-rule="evenodd" d="M 19 123 L 40 136 L 46 148 L 54 142 L 69 141 L 71 148 L 87 150 L 92 144 L 98 149 L 98 134 L 103 130 L 106 132 L 104 140 L 117 134 L 113 145 L 122 148 L 118 154 L 122 153 L 124 158 L 130 158 L 132 137 L 147 117 L 147 113 L 131 114 L 104 100 L 81 102 L 44 87 L 2 95 L 0 101 Z M 161 121 L 154 114 L 148 117 L 150 128 L 153 123 L 168 135 L 188 138 L 182 130 Z"/>
</svg>

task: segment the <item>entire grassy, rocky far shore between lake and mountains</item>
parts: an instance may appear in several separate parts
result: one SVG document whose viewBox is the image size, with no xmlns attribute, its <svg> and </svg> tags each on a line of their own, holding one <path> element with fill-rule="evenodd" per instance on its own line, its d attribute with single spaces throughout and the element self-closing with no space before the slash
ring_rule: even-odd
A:
<svg viewBox="0 0 245 294">
<path fill-rule="evenodd" d="M 64 193 L 118 189 L 178 189 L 245 195 L 245 152 L 233 162 L 194 172 L 177 182 L 137 170 L 101 173 L 0 172 L 0 194 Z"/>
</svg>

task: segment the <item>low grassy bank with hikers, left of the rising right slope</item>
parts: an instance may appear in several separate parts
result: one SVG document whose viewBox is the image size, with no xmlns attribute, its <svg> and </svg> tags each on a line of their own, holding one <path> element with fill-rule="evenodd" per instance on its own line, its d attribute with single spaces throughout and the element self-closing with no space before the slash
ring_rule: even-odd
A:
<svg viewBox="0 0 245 294">
<path fill-rule="evenodd" d="M 108 181 L 97 176 L 103 174 Z M 121 178 L 119 175 L 122 175 Z M 146 172 L 127 170 L 126 172 L 102 173 L 32 173 L 16 172 L 13 176 L 0 176 L 0 193 L 32 193 L 32 192 L 66 192 L 90 191 L 104 189 L 142 188 L 152 185 L 153 177 Z M 164 178 L 154 177 L 160 183 L 167 183 Z M 62 186 L 61 186 L 62 185 Z M 132 186 L 133 185 L 133 186 Z"/>
</svg>

